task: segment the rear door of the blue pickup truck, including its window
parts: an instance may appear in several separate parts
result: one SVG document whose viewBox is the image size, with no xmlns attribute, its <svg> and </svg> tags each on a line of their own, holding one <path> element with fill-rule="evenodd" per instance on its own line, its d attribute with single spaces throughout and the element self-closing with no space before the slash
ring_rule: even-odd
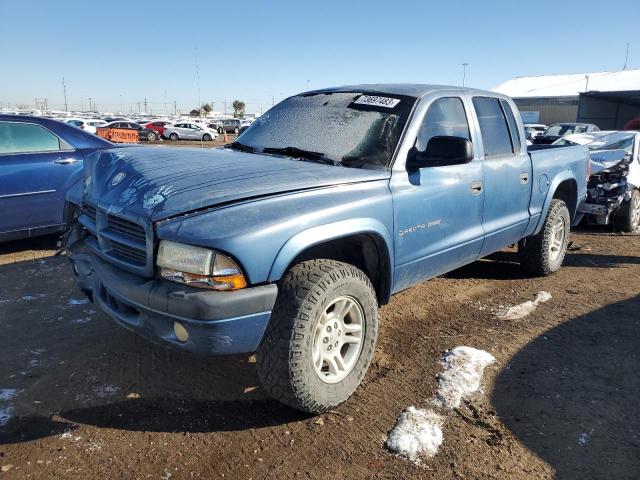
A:
<svg viewBox="0 0 640 480">
<path fill-rule="evenodd" d="M 507 101 L 474 96 L 472 103 L 483 145 L 485 239 L 480 255 L 485 256 L 524 236 L 529 223 L 531 158 Z"/>
</svg>

